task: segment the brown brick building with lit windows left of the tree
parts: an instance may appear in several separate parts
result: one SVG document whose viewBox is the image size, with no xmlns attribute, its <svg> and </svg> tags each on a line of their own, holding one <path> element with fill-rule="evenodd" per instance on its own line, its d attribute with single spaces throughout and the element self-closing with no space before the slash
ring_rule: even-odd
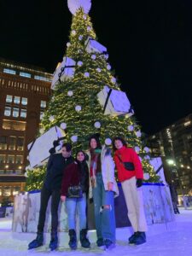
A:
<svg viewBox="0 0 192 256">
<path fill-rule="evenodd" d="M 38 135 L 52 75 L 0 59 L 0 203 L 24 190 L 27 144 Z"/>
</svg>

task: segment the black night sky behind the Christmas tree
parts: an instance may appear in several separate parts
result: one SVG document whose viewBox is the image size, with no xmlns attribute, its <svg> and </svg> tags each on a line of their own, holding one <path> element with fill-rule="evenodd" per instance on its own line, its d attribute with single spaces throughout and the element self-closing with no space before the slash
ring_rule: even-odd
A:
<svg viewBox="0 0 192 256">
<path fill-rule="evenodd" d="M 144 132 L 192 113 L 191 0 L 92 0 L 90 17 Z M 53 73 L 71 20 L 67 0 L 0 0 L 0 56 Z"/>
</svg>

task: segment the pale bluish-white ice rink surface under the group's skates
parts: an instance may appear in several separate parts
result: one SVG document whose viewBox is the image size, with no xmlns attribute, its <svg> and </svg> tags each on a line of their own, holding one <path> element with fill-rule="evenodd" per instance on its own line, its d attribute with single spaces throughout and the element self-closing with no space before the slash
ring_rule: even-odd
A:
<svg viewBox="0 0 192 256">
<path fill-rule="evenodd" d="M 60 247 L 49 252 L 49 234 L 46 234 L 46 245 L 27 251 L 27 244 L 35 238 L 35 234 L 11 232 L 11 219 L 0 218 L 0 255 L 1 256 L 191 256 L 192 255 L 192 210 L 181 210 L 172 224 L 156 224 L 148 227 L 147 242 L 141 246 L 129 246 L 129 228 L 117 229 L 117 244 L 111 251 L 102 251 L 96 247 L 96 233 L 90 232 L 90 249 L 71 251 L 68 236 L 62 233 Z"/>
</svg>

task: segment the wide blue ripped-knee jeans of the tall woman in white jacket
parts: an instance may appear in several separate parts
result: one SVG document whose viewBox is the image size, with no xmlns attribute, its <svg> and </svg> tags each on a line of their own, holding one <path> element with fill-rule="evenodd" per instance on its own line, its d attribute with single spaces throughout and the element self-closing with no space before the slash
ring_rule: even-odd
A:
<svg viewBox="0 0 192 256">
<path fill-rule="evenodd" d="M 114 193 L 106 191 L 102 181 L 102 173 L 96 174 L 96 188 L 93 188 L 93 202 L 96 220 L 97 239 L 109 239 L 115 242 Z M 109 206 L 104 208 L 103 206 Z"/>
</svg>

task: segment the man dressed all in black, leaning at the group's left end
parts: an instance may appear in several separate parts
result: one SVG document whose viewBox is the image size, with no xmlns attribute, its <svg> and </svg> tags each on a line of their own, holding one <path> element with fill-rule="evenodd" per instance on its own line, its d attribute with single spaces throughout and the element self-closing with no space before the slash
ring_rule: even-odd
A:
<svg viewBox="0 0 192 256">
<path fill-rule="evenodd" d="M 31 241 L 28 249 L 40 247 L 44 243 L 44 222 L 46 210 L 49 201 L 51 200 L 51 240 L 49 248 L 55 250 L 58 245 L 57 226 L 58 226 L 58 207 L 61 196 L 61 181 L 63 171 L 66 167 L 73 163 L 72 145 L 64 143 L 61 148 L 61 154 L 51 154 L 47 166 L 47 173 L 44 179 L 44 185 L 41 189 L 41 204 L 38 218 L 38 233 L 35 240 Z"/>
</svg>

